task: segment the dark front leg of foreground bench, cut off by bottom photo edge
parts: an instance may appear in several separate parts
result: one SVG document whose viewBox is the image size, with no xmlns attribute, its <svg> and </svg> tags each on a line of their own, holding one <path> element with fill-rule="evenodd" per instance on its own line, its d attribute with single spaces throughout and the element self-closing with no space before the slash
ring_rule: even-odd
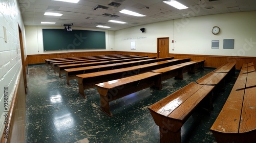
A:
<svg viewBox="0 0 256 143">
<path fill-rule="evenodd" d="M 180 129 L 181 130 L 181 129 Z M 180 130 L 177 132 L 172 132 L 169 131 L 165 128 L 159 127 L 160 131 L 160 142 L 165 143 L 165 142 L 181 142 L 181 133 Z"/>
</svg>

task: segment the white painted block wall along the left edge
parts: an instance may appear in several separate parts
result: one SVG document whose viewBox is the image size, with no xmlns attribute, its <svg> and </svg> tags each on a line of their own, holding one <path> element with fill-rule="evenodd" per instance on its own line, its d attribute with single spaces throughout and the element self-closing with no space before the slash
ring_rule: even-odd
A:
<svg viewBox="0 0 256 143">
<path fill-rule="evenodd" d="M 20 55 L 18 25 L 25 39 L 25 29 L 17 0 L 0 0 L 0 131 L 4 131 L 4 87 L 8 87 L 8 110 L 17 85 L 17 79 L 22 68 Z M 4 28 L 7 42 L 5 42 Z M 24 48 L 26 46 L 23 41 Z M 26 57 L 26 51 L 25 57 Z M 8 121 L 9 122 L 9 121 Z M 10 122 L 9 122 L 10 123 Z"/>
</svg>

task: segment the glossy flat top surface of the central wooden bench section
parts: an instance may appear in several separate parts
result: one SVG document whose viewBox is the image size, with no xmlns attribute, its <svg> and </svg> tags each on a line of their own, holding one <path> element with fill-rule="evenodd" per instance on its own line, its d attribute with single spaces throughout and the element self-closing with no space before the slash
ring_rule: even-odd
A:
<svg viewBox="0 0 256 143">
<path fill-rule="evenodd" d="M 142 79 L 154 77 L 154 76 L 157 76 L 157 75 L 161 75 L 161 74 L 160 73 L 147 72 L 147 73 L 143 73 L 143 74 L 139 74 L 139 75 L 135 75 L 135 76 L 131 76 L 131 77 L 126 77 L 126 78 L 122 78 L 122 79 L 117 79 L 117 80 L 112 80 L 112 81 L 108 81 L 108 82 L 98 83 L 98 84 L 96 84 L 96 86 L 101 87 L 101 88 L 111 89 L 111 88 L 114 88 L 114 87 L 117 87 L 117 86 L 121 86 L 121 85 L 125 85 L 127 83 L 140 81 Z"/>
</svg>

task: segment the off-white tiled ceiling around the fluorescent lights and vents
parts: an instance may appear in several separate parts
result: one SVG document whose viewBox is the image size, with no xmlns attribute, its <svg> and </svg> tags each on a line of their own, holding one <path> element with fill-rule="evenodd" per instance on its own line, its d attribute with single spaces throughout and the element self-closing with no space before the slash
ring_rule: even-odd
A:
<svg viewBox="0 0 256 143">
<path fill-rule="evenodd" d="M 51 0 L 18 1 L 25 26 L 49 26 L 49 24 L 40 23 L 47 21 L 56 22 L 54 26 L 73 23 L 74 27 L 96 28 L 97 25 L 103 25 L 111 27 L 109 30 L 113 31 L 190 16 L 256 11 L 255 0 L 219 0 L 214 2 L 209 2 L 211 0 L 177 0 L 189 7 L 184 10 L 175 9 L 163 3 L 163 0 L 80 0 L 77 4 Z M 109 4 L 112 2 L 121 5 L 119 7 L 110 6 Z M 97 5 L 109 8 L 93 10 Z M 207 7 L 213 7 L 213 9 L 206 9 Z M 122 9 L 132 10 L 146 16 L 136 17 L 119 13 Z M 56 12 L 63 15 L 61 17 L 45 16 L 45 12 Z M 119 17 L 104 16 L 102 15 L 104 13 Z M 182 16 L 184 14 L 189 15 Z M 127 23 L 122 25 L 108 22 L 111 19 Z"/>
</svg>

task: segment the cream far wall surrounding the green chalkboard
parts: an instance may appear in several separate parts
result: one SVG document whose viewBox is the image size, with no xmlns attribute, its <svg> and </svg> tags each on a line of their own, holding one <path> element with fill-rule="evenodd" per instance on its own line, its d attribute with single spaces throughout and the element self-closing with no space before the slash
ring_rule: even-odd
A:
<svg viewBox="0 0 256 143">
<path fill-rule="evenodd" d="M 54 26 L 25 26 L 26 31 L 26 43 L 27 54 L 49 54 L 49 53 L 66 53 L 66 52 L 86 52 L 86 51 L 109 51 L 115 50 L 115 31 L 101 30 L 101 29 L 88 29 L 88 28 L 76 28 L 73 30 L 93 30 L 104 31 L 106 37 L 106 49 L 105 50 L 61 50 L 61 51 L 44 51 L 44 45 L 42 41 L 42 29 L 64 29 L 64 27 Z"/>
</svg>

